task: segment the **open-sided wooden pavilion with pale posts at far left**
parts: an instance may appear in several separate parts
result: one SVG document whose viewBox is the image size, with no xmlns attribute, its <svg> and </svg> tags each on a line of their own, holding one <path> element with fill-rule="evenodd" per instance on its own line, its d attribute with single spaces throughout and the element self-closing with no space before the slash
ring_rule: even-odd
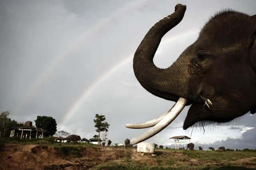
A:
<svg viewBox="0 0 256 170">
<path fill-rule="evenodd" d="M 19 138 L 42 138 L 44 136 L 44 130 L 41 128 L 34 127 L 31 121 L 26 121 L 23 126 L 11 127 L 10 137 Z"/>
</svg>

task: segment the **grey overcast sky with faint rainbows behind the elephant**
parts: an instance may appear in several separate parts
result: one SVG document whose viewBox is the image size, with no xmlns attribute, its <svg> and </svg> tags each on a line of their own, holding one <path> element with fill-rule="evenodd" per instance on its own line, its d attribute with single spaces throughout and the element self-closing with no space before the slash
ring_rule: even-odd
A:
<svg viewBox="0 0 256 170">
<path fill-rule="evenodd" d="M 148 30 L 178 3 L 187 10 L 162 38 L 154 58 L 161 68 L 170 66 L 219 10 L 256 14 L 253 0 L 1 0 L 0 109 L 21 122 L 51 116 L 58 130 L 82 138 L 96 134 L 93 119 L 102 114 L 113 144 L 136 137 L 146 129 L 128 129 L 126 123 L 156 118 L 174 102 L 143 89 L 132 57 Z M 147 142 L 171 145 L 172 136 L 190 136 L 192 128 L 182 129 L 188 108 Z M 205 132 L 194 128 L 190 142 L 255 148 L 255 122 L 256 116 L 248 113 L 231 123 L 204 127 Z"/>
</svg>

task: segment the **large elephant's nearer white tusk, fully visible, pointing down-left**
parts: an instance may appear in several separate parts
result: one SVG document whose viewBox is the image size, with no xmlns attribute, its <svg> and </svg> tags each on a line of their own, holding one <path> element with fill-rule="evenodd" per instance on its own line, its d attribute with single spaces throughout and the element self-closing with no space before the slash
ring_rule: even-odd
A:
<svg viewBox="0 0 256 170">
<path fill-rule="evenodd" d="M 154 127 L 150 128 L 148 131 L 144 132 L 140 136 L 137 136 L 136 138 L 130 140 L 130 144 L 137 144 L 139 142 L 142 142 L 163 130 L 170 123 L 172 123 L 172 121 L 174 121 L 174 119 L 184 109 L 187 102 L 187 99 L 180 97 L 177 103 L 172 107 L 171 110 L 169 110 L 168 114 L 159 123 L 157 123 Z"/>
</svg>

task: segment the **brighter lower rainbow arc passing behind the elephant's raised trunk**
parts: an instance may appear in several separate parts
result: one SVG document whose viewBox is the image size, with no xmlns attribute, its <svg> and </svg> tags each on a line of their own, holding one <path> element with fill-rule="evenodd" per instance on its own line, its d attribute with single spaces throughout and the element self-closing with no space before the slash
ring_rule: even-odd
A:
<svg viewBox="0 0 256 170">
<path fill-rule="evenodd" d="M 167 44 L 170 42 L 173 42 L 177 40 L 178 38 L 186 38 L 187 36 L 192 36 L 198 34 L 199 30 L 192 30 L 190 32 L 186 32 L 180 35 L 173 36 L 171 38 L 168 38 L 161 42 L 161 44 Z M 118 69 L 122 68 L 122 66 L 126 65 L 130 61 L 132 61 L 133 55 L 128 55 L 125 59 L 120 61 L 117 65 L 114 67 L 111 67 L 104 75 L 102 75 L 99 79 L 94 81 L 90 87 L 84 89 L 82 95 L 78 97 L 76 102 L 72 105 L 72 107 L 68 110 L 68 112 L 65 114 L 64 119 L 62 120 L 61 124 L 64 125 L 75 113 L 78 111 L 78 109 L 81 107 L 84 100 L 92 93 L 95 89 L 97 89 L 106 79 L 108 79 L 111 75 L 113 75 Z"/>
</svg>

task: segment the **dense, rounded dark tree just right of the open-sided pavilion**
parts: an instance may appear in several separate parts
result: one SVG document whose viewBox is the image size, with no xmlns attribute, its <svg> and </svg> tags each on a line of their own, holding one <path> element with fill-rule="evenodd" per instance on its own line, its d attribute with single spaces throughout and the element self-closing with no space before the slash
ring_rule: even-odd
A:
<svg viewBox="0 0 256 170">
<path fill-rule="evenodd" d="M 42 128 L 45 130 L 45 136 L 52 136 L 57 131 L 57 123 L 55 119 L 48 116 L 37 116 L 36 120 L 36 127 Z"/>
</svg>

